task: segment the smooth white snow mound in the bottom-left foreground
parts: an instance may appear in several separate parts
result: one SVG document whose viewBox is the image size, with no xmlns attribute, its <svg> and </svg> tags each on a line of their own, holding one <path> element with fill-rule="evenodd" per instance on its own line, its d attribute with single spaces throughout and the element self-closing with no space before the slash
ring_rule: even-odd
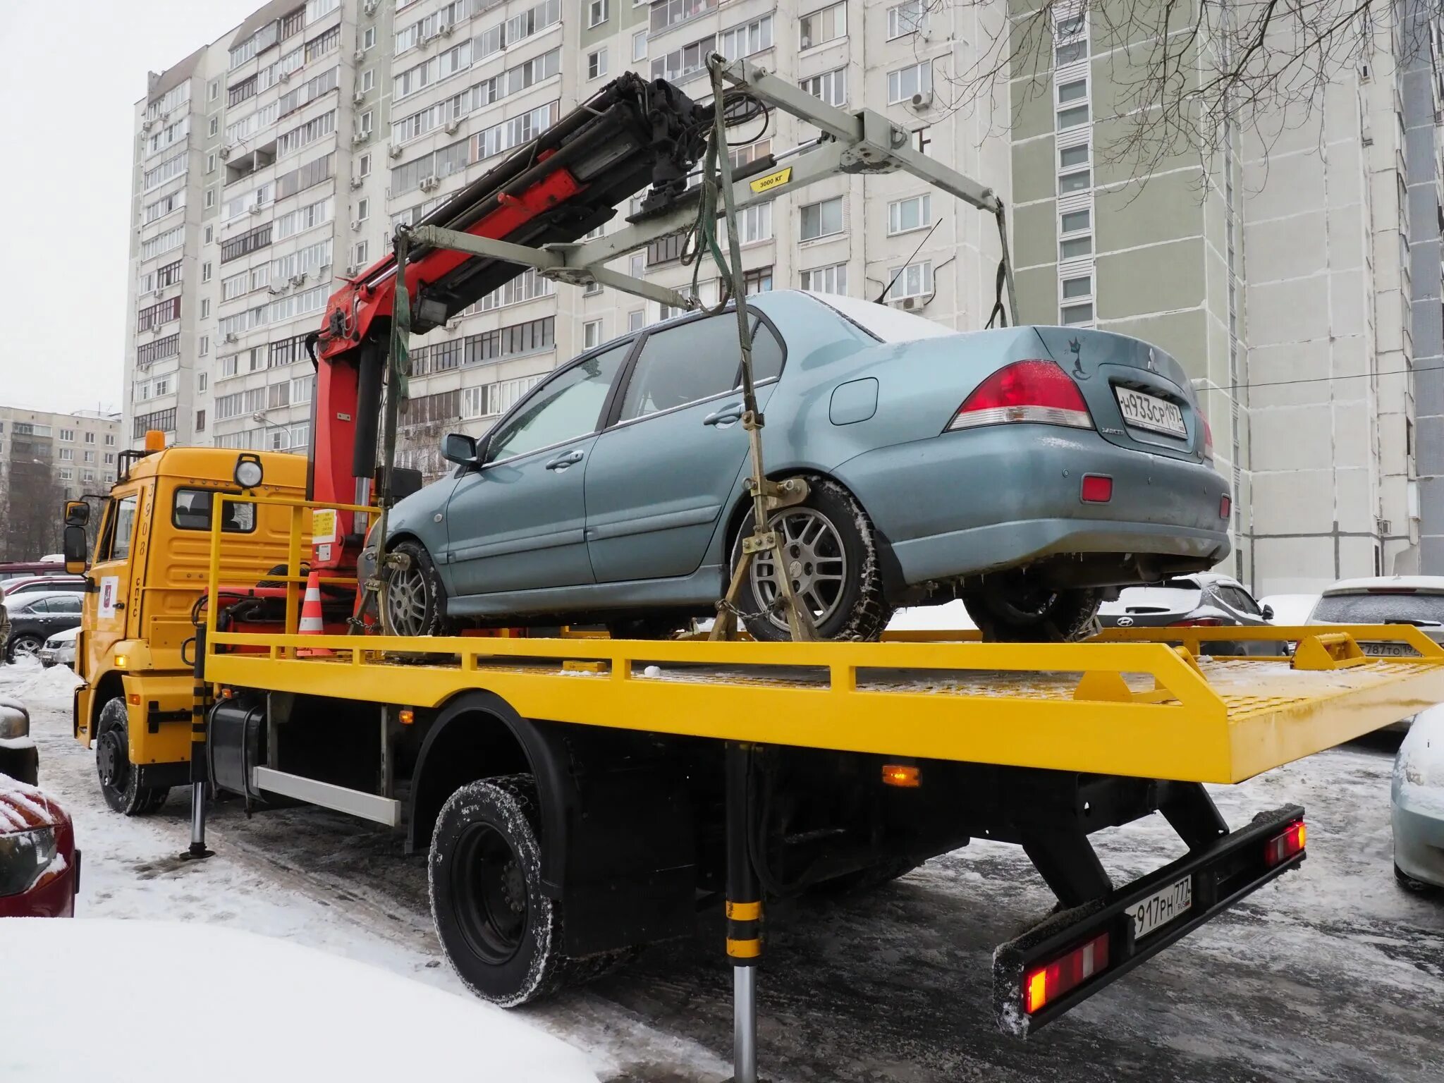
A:
<svg viewBox="0 0 1444 1083">
<path fill-rule="evenodd" d="M 596 1083 L 579 1050 L 500 1008 L 234 928 L 7 918 L 0 959 L 6 988 L 25 991 L 6 998 L 0 1079 L 140 1083 L 199 1067 L 206 1083 L 254 1083 L 263 1063 L 284 1079 L 348 1083 Z M 165 1063 L 175 1071 L 157 1074 L 155 1058 L 117 1057 L 111 1043 L 77 1040 L 74 1019 L 56 1005 L 113 988 L 117 975 L 152 973 L 165 959 L 205 960 L 205 1017 L 224 1021 L 234 1041 L 218 1044 L 214 1025 L 173 1027 Z M 155 1011 L 150 996 L 108 998 L 108 1032 L 152 1031 Z"/>
</svg>

